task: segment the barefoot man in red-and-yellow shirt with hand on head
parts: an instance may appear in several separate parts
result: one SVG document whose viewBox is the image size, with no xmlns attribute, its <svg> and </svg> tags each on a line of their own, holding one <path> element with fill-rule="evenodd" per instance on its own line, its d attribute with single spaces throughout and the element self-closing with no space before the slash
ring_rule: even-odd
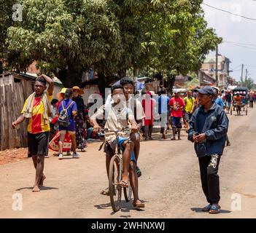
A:
<svg viewBox="0 0 256 233">
<path fill-rule="evenodd" d="M 46 83 L 49 84 L 47 88 Z M 50 134 L 50 101 L 53 99 L 54 82 L 42 74 L 36 78 L 34 92 L 28 96 L 21 111 L 21 116 L 12 122 L 15 129 L 24 119 L 28 119 L 28 157 L 32 157 L 36 169 L 36 180 L 32 191 L 40 191 L 44 179 L 44 157 L 48 155 Z M 46 91 L 47 90 L 47 91 Z"/>
</svg>

